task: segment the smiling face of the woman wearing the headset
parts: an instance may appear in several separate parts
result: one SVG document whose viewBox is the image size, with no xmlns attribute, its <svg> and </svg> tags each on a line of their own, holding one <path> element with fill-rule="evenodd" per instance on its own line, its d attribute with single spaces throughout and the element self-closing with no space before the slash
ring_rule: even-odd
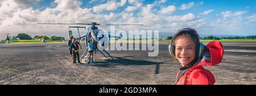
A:
<svg viewBox="0 0 256 96">
<path fill-rule="evenodd" d="M 181 37 L 175 41 L 175 56 L 185 66 L 195 59 L 196 43 L 191 37 Z"/>
</svg>

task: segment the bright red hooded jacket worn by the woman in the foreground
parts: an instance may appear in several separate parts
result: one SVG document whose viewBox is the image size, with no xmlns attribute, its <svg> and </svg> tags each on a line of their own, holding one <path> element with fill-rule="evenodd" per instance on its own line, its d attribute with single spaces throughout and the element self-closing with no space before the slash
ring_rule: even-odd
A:
<svg viewBox="0 0 256 96">
<path fill-rule="evenodd" d="M 200 62 L 194 64 L 193 67 L 189 68 L 185 71 L 180 78 L 178 78 L 180 74 L 180 70 L 176 76 L 176 84 L 177 85 L 213 85 L 215 82 L 215 78 L 210 71 L 205 69 L 205 66 L 213 66 L 215 64 L 221 63 L 222 57 L 224 54 L 224 50 L 222 44 L 218 41 L 209 42 L 207 45 L 207 49 L 210 52 L 210 59 L 204 60 L 202 59 Z"/>
</svg>

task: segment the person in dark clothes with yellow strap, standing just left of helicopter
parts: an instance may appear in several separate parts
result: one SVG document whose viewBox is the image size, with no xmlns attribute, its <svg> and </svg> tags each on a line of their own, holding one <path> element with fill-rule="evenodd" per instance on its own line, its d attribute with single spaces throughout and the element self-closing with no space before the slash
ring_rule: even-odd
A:
<svg viewBox="0 0 256 96">
<path fill-rule="evenodd" d="M 75 39 L 72 40 L 72 43 L 69 48 L 72 50 L 72 53 L 73 53 L 73 64 L 76 65 L 76 59 L 78 63 L 81 64 L 80 58 L 79 58 L 79 45 L 77 45 Z"/>
</svg>

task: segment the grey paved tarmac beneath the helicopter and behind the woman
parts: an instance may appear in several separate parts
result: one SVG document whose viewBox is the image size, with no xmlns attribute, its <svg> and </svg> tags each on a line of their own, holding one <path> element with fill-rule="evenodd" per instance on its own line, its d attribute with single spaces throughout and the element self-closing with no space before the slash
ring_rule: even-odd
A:
<svg viewBox="0 0 256 96">
<path fill-rule="evenodd" d="M 256 84 L 256 43 L 222 43 L 224 61 L 205 66 L 215 84 Z M 83 46 L 84 47 L 84 46 Z M 148 51 L 108 51 L 119 60 L 96 54 L 96 63 L 72 64 L 66 43 L 0 44 L 0 84 L 174 84 L 179 64 L 172 61 L 168 43 L 159 54 Z M 80 50 L 80 54 L 82 51 Z"/>
</svg>

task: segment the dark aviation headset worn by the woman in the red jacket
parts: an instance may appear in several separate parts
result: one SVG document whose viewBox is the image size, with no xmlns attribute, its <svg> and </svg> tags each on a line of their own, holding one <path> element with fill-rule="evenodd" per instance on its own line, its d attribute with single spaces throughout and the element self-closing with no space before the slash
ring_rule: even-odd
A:
<svg viewBox="0 0 256 96">
<path fill-rule="evenodd" d="M 203 54 L 204 49 L 205 49 L 205 45 L 200 42 L 199 34 L 196 32 L 195 29 L 193 29 L 193 28 L 183 28 L 183 29 L 178 30 L 174 34 L 174 36 L 172 37 L 172 41 L 169 43 L 169 53 L 170 53 L 172 58 L 174 58 L 174 56 L 175 56 L 175 45 L 174 45 L 173 41 L 177 37 L 179 37 L 181 34 L 184 34 L 184 33 L 187 33 L 187 34 L 190 34 L 191 36 L 197 37 L 196 38 L 197 39 L 196 40 L 196 56 L 195 56 L 195 59 L 191 63 L 187 64 L 184 67 L 181 67 L 180 70 L 184 70 L 184 69 L 188 69 L 188 68 L 193 67 L 193 64 L 201 59 L 202 54 Z"/>
</svg>

